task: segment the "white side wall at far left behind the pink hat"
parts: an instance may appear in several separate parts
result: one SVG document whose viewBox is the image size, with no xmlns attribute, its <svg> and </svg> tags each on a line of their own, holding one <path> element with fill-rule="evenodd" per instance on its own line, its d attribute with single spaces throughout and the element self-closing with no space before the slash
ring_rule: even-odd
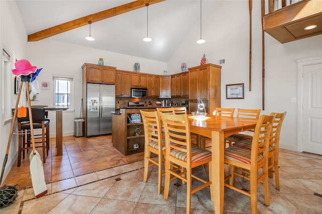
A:
<svg viewBox="0 0 322 214">
<path fill-rule="evenodd" d="M 26 57 L 27 53 L 27 33 L 25 27 L 23 25 L 22 19 L 19 14 L 19 10 L 17 8 L 15 1 L 0 1 L 0 21 L 1 21 L 1 36 L 0 36 L 0 47 L 1 47 L 1 55 L 2 50 L 5 48 L 10 52 L 11 55 L 11 67 L 15 68 L 15 59 L 23 59 Z M 3 68 L 0 66 L 0 76 L 3 77 Z M 8 71 L 5 71 L 8 72 Z M 10 111 L 11 105 L 10 101 L 16 104 L 17 95 L 14 94 L 14 80 L 15 77 L 12 74 L 11 70 L 9 71 L 9 88 L 4 90 L 6 100 L 8 102 L 3 103 L 3 89 L 0 87 L 0 106 L 6 106 L 6 112 Z M 8 75 L 8 73 L 6 73 Z M 1 82 L 3 80 L 0 80 Z M 15 105 L 14 105 L 15 106 Z M 5 154 L 7 151 L 7 145 L 10 135 L 11 129 L 11 118 L 6 114 L 2 114 L 2 110 L 0 113 L 0 164 L 1 168 L 3 167 L 3 160 L 5 159 Z M 17 127 L 15 128 L 17 130 Z M 6 164 L 6 169 L 4 173 L 3 181 L 5 180 L 7 174 L 9 173 L 12 165 L 15 163 L 18 155 L 18 138 L 17 135 L 13 135 L 12 143 L 10 144 L 10 150 L 8 154 L 8 162 Z"/>
</svg>

